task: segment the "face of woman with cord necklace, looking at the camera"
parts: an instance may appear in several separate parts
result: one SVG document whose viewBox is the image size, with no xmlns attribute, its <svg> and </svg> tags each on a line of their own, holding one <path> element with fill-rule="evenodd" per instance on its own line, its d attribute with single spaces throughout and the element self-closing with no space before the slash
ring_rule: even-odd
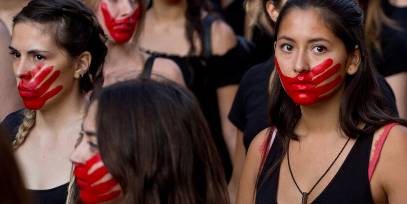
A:
<svg viewBox="0 0 407 204">
<path fill-rule="evenodd" d="M 281 83 L 295 103 L 311 105 L 343 91 L 348 53 L 318 11 L 291 11 L 280 23 L 274 46 Z"/>
</svg>

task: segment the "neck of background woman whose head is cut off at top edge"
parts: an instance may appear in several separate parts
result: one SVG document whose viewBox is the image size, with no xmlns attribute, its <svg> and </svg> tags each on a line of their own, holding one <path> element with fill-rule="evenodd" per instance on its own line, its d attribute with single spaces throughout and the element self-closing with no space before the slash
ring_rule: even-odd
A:
<svg viewBox="0 0 407 204">
<path fill-rule="evenodd" d="M 158 22 L 174 22 L 185 20 L 187 1 L 168 2 L 166 0 L 155 0 L 151 7 L 151 14 Z"/>
</svg>

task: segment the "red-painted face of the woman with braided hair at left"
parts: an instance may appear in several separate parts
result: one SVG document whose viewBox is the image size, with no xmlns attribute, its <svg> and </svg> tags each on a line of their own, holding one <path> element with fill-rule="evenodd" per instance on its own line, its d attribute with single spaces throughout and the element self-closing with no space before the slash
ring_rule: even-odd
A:
<svg viewBox="0 0 407 204">
<path fill-rule="evenodd" d="M 10 44 L 13 69 L 20 97 L 30 110 L 45 109 L 63 102 L 78 89 L 75 59 L 58 48 L 53 34 L 38 23 L 19 22 Z"/>
</svg>

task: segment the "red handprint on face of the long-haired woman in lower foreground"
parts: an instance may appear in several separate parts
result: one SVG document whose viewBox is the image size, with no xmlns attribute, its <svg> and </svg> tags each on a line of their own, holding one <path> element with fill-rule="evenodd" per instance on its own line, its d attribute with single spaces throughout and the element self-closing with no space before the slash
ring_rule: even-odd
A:
<svg viewBox="0 0 407 204">
<path fill-rule="evenodd" d="M 121 193 L 118 182 L 103 165 L 99 153 L 86 161 L 85 165 L 76 164 L 74 173 L 80 188 L 80 199 L 85 204 L 107 202 Z"/>
</svg>

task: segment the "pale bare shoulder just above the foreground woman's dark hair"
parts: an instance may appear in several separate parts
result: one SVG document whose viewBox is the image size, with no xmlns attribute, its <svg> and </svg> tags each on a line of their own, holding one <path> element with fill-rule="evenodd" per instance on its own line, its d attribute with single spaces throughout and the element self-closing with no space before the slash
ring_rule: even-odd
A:
<svg viewBox="0 0 407 204">
<path fill-rule="evenodd" d="M 161 75 L 167 79 L 185 86 L 181 69 L 172 60 L 166 58 L 156 58 L 153 63 L 153 74 Z"/>
</svg>

